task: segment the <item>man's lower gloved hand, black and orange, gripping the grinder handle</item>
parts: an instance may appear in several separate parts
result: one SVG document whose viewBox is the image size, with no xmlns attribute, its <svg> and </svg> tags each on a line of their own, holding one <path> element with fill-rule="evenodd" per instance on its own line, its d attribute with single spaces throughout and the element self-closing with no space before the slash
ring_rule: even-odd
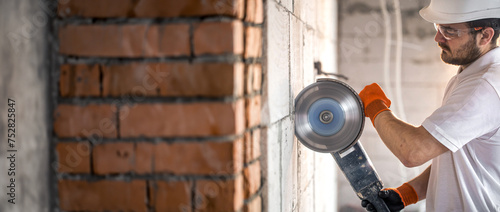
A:
<svg viewBox="0 0 500 212">
<path fill-rule="evenodd" d="M 398 188 L 382 189 L 378 192 L 378 196 L 384 200 L 390 211 L 400 211 L 404 207 L 418 202 L 417 192 L 408 183 Z M 368 200 L 361 201 L 361 206 L 367 211 L 377 211 Z"/>
</svg>

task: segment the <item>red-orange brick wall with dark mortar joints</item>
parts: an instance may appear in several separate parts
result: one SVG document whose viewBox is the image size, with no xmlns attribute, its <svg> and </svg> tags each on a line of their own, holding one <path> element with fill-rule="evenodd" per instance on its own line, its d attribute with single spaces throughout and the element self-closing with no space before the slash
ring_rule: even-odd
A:
<svg viewBox="0 0 500 212">
<path fill-rule="evenodd" d="M 62 211 L 260 211 L 261 0 L 59 1 Z"/>
</svg>

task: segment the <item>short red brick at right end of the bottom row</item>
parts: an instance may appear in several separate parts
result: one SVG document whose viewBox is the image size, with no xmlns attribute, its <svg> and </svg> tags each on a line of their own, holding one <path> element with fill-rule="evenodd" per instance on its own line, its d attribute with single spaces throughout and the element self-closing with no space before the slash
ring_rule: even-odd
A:
<svg viewBox="0 0 500 212">
<path fill-rule="evenodd" d="M 238 211 L 243 206 L 243 179 L 196 182 L 195 211 Z"/>
</svg>

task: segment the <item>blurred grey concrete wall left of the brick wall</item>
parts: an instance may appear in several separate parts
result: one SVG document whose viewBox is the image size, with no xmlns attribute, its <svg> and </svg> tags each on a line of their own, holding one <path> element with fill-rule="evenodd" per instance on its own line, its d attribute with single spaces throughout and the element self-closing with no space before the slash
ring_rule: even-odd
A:
<svg viewBox="0 0 500 212">
<path fill-rule="evenodd" d="M 0 211 L 49 211 L 46 33 L 50 9 L 46 6 L 42 0 L 0 1 Z M 13 148 L 7 140 L 9 98 L 15 100 Z M 15 176 L 8 172 L 10 154 L 15 154 Z M 11 178 L 15 204 L 8 202 Z"/>
</svg>

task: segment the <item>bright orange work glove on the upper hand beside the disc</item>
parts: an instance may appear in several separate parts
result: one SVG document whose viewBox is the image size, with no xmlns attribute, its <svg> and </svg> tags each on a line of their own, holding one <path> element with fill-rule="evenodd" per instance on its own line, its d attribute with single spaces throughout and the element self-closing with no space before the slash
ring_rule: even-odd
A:
<svg viewBox="0 0 500 212">
<path fill-rule="evenodd" d="M 391 100 L 385 96 L 384 91 L 377 83 L 367 85 L 361 92 L 359 97 L 363 101 L 365 107 L 365 115 L 372 121 L 375 126 L 375 117 L 382 111 L 390 111 Z"/>
</svg>

